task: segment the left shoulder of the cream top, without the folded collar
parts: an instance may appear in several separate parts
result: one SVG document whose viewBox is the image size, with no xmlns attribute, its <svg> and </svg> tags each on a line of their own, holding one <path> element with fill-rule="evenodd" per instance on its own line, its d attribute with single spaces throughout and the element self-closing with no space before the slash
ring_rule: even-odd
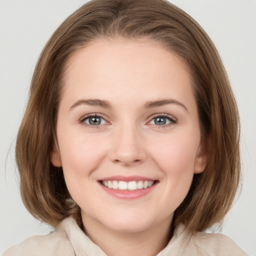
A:
<svg viewBox="0 0 256 256">
<path fill-rule="evenodd" d="M 48 235 L 34 235 L 7 249 L 3 256 L 72 256 L 72 246 L 62 228 Z"/>
</svg>

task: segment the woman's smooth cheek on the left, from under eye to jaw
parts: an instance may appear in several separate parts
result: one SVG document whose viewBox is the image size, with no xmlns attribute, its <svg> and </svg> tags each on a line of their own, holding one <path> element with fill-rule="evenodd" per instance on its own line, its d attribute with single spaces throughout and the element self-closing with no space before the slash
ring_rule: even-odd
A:
<svg viewBox="0 0 256 256">
<path fill-rule="evenodd" d="M 66 137 L 59 141 L 63 175 L 67 189 L 78 205 L 93 197 L 94 170 L 104 158 L 105 149 L 97 139 L 82 136 Z"/>
</svg>

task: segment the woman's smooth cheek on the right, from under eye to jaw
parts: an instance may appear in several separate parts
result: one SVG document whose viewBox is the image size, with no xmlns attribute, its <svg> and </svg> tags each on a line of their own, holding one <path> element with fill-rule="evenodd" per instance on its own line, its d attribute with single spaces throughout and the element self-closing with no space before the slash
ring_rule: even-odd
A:
<svg viewBox="0 0 256 256">
<path fill-rule="evenodd" d="M 184 200 L 193 179 L 193 166 L 199 139 L 192 136 L 171 136 L 158 139 L 151 146 L 151 156 L 162 173 L 163 190 L 158 199 L 163 212 L 173 212 Z"/>
</svg>

